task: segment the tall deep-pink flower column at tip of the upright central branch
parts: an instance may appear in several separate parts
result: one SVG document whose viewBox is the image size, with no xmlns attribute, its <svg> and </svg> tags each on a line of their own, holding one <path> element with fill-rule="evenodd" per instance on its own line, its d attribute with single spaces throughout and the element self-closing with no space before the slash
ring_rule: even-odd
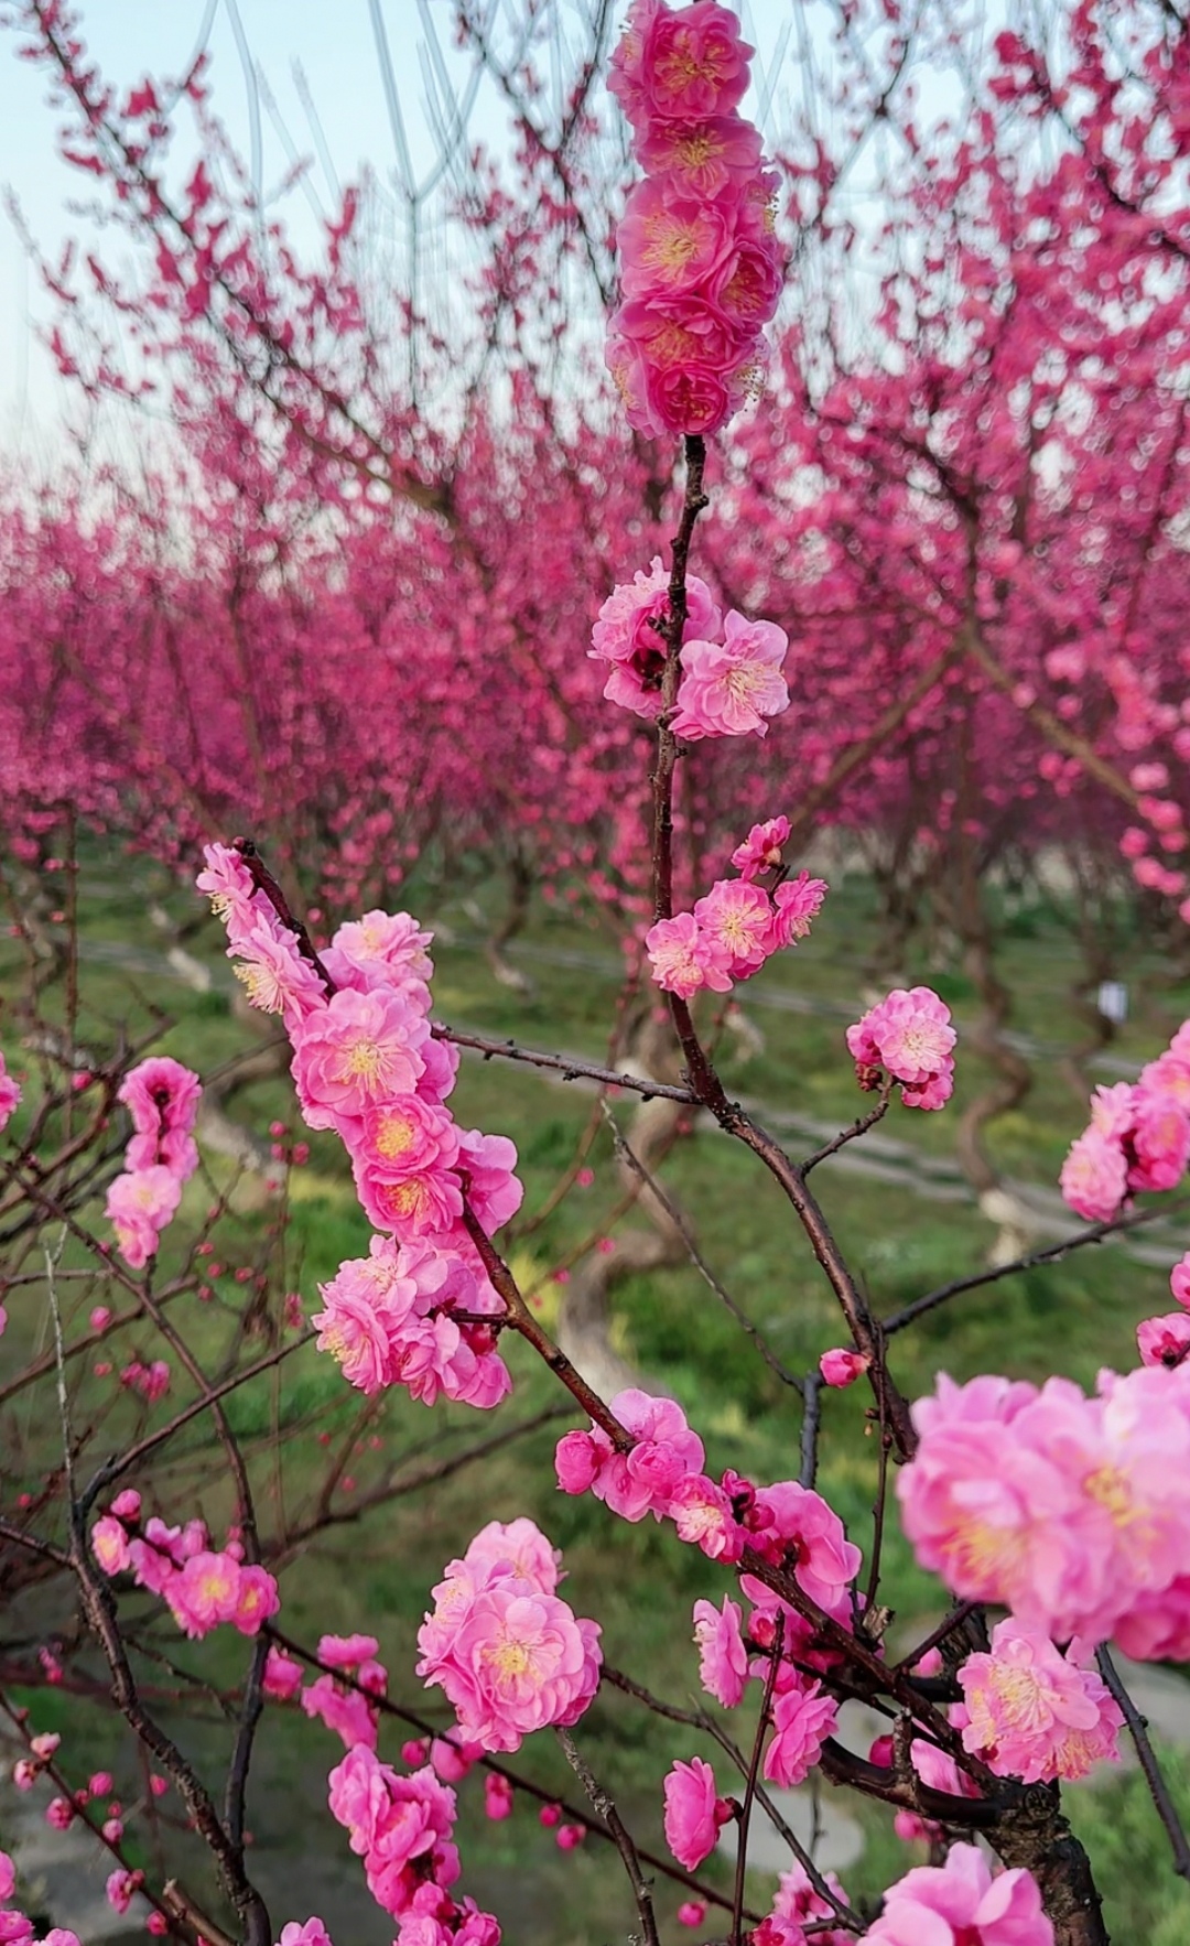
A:
<svg viewBox="0 0 1190 1946">
<path fill-rule="evenodd" d="M 611 90 L 648 171 L 618 230 L 624 302 L 607 364 L 649 438 L 718 432 L 758 385 L 784 259 L 776 177 L 737 113 L 752 49 L 718 0 L 634 0 Z"/>
</svg>

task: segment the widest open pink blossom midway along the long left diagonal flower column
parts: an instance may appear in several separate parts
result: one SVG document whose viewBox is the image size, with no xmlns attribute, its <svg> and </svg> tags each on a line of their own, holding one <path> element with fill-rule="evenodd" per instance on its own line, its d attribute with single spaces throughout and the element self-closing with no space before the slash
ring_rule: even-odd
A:
<svg viewBox="0 0 1190 1946">
<path fill-rule="evenodd" d="M 428 1039 L 426 1020 L 391 989 L 336 992 L 294 1031 L 294 1080 L 309 1127 L 331 1129 L 336 1117 L 414 1094 Z"/>
</svg>

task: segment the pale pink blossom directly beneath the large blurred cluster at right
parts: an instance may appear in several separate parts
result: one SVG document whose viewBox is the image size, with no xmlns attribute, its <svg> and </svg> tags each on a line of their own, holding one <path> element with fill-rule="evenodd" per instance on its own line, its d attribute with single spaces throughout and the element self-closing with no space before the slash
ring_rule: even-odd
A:
<svg viewBox="0 0 1190 1946">
<path fill-rule="evenodd" d="M 1120 1761 L 1124 1716 L 1106 1683 L 1083 1668 L 1077 1642 L 1062 1654 L 1009 1615 L 992 1631 L 992 1652 L 966 1658 L 959 1683 L 962 1748 L 998 1777 L 1050 1784 Z"/>
</svg>

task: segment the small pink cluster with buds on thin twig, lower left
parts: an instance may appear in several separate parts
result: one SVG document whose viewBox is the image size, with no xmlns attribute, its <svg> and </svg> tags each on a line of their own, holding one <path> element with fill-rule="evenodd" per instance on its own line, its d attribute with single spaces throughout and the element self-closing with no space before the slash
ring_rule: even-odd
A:
<svg viewBox="0 0 1190 1946">
<path fill-rule="evenodd" d="M 91 1555 L 105 1574 L 130 1572 L 138 1588 L 163 1596 L 179 1629 L 210 1635 L 229 1621 L 241 1635 L 257 1635 L 276 1615 L 280 1598 L 266 1568 L 245 1567 L 237 1535 L 212 1549 L 206 1524 L 189 1520 L 167 1528 L 150 1514 L 140 1518 L 140 1495 L 117 1495 L 91 1528 Z"/>
</svg>

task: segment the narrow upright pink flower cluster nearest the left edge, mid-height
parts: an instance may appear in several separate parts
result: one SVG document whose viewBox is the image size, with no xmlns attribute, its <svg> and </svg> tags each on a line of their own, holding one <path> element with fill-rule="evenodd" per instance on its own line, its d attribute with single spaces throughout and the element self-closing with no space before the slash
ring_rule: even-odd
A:
<svg viewBox="0 0 1190 1946">
<path fill-rule="evenodd" d="M 158 1251 L 158 1236 L 177 1214 L 183 1185 L 198 1168 L 192 1127 L 202 1086 L 169 1055 L 154 1055 L 124 1076 L 117 1099 L 132 1115 L 124 1173 L 107 1191 L 107 1218 L 124 1263 L 134 1271 Z"/>
</svg>

